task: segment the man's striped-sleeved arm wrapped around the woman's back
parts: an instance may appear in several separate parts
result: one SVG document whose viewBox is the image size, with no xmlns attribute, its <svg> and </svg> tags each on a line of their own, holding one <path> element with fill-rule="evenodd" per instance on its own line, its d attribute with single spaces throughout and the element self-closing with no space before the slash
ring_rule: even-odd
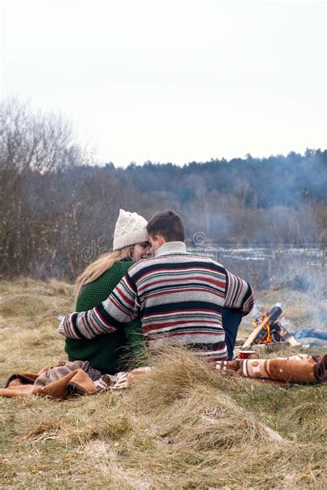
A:
<svg viewBox="0 0 327 490">
<path fill-rule="evenodd" d="M 139 307 L 135 283 L 127 272 L 106 301 L 87 312 L 68 314 L 58 330 L 70 339 L 92 339 L 137 318 Z"/>
</svg>

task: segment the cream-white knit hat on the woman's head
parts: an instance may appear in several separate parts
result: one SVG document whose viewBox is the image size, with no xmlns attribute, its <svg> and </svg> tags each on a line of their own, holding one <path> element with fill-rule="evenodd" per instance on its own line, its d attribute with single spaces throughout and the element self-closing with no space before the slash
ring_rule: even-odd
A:
<svg viewBox="0 0 327 490">
<path fill-rule="evenodd" d="M 148 221 L 139 214 L 119 209 L 113 249 L 118 250 L 128 245 L 135 245 L 135 243 L 147 242 L 149 238 L 146 225 Z"/>
</svg>

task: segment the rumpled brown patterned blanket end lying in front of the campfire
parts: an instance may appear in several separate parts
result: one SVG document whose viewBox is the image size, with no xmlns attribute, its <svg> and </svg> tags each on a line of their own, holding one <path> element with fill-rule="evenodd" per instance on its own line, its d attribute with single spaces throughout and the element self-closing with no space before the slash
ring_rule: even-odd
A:
<svg viewBox="0 0 327 490">
<path fill-rule="evenodd" d="M 319 383 L 327 379 L 327 355 L 299 354 L 275 359 L 217 361 L 216 369 L 237 375 L 286 383 Z"/>
</svg>

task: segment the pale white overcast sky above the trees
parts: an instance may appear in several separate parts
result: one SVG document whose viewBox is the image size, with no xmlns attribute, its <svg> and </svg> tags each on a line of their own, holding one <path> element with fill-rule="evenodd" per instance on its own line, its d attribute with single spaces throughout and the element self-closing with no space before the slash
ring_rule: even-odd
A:
<svg viewBox="0 0 327 490">
<path fill-rule="evenodd" d="M 4 1 L 0 82 L 116 165 L 326 148 L 326 5 Z"/>
</svg>

